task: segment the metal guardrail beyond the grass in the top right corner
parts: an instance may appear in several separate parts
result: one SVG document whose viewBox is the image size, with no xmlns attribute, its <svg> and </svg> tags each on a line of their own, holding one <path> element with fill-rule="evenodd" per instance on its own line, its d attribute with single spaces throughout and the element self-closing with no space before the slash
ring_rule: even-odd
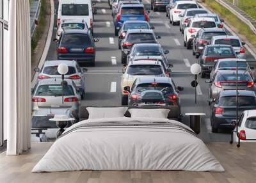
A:
<svg viewBox="0 0 256 183">
<path fill-rule="evenodd" d="M 256 20 L 252 19 L 252 17 L 248 16 L 243 10 L 240 10 L 232 3 L 225 1 L 225 0 L 215 0 L 216 2 L 220 3 L 222 6 L 230 10 L 230 12 L 234 13 L 240 20 L 246 23 L 250 29 L 252 29 L 253 33 L 256 34 Z"/>
</svg>

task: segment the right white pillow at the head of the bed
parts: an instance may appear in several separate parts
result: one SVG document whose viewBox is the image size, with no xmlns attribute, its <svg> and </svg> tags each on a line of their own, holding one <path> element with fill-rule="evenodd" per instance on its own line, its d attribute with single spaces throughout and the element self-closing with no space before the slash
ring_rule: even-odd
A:
<svg viewBox="0 0 256 183">
<path fill-rule="evenodd" d="M 132 118 L 167 118 L 170 109 L 128 109 Z"/>
</svg>

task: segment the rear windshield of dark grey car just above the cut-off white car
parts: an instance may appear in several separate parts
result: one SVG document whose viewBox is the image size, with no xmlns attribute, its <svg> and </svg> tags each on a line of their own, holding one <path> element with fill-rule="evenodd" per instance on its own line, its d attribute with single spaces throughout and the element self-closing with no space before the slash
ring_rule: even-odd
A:
<svg viewBox="0 0 256 183">
<path fill-rule="evenodd" d="M 236 96 L 221 97 L 220 106 L 236 106 Z M 239 96 L 238 106 L 256 106 L 255 97 Z"/>
</svg>

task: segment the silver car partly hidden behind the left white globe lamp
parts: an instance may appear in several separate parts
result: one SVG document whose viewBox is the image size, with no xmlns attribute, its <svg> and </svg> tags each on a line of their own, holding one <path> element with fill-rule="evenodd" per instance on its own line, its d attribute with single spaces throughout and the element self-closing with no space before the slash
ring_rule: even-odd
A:
<svg viewBox="0 0 256 183">
<path fill-rule="evenodd" d="M 81 98 L 84 97 L 84 88 L 85 88 L 85 76 L 86 68 L 81 68 L 77 61 L 71 60 L 48 60 L 44 62 L 43 67 L 39 71 L 39 68 L 35 68 L 35 71 L 38 71 L 38 79 L 47 79 L 47 78 L 61 78 L 61 75 L 58 73 L 58 65 L 60 63 L 65 63 L 68 66 L 68 72 L 65 74 L 65 78 L 72 79 L 76 84 L 77 90 L 81 95 Z"/>
</svg>

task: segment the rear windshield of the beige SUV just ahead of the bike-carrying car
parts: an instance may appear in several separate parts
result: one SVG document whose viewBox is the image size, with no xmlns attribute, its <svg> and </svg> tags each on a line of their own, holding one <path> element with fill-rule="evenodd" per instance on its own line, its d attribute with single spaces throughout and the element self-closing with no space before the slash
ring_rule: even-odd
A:
<svg viewBox="0 0 256 183">
<path fill-rule="evenodd" d="M 163 74 L 163 69 L 160 65 L 131 65 L 127 68 L 127 74 L 157 76 Z"/>
</svg>

